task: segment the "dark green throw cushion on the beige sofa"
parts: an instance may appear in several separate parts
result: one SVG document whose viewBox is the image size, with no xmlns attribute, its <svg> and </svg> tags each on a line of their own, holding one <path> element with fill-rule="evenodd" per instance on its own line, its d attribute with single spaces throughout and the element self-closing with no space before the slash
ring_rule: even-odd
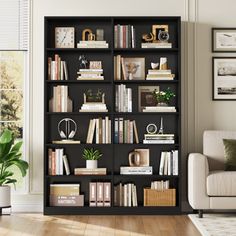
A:
<svg viewBox="0 0 236 236">
<path fill-rule="evenodd" d="M 236 170 L 236 140 L 223 139 L 225 147 L 225 170 Z"/>
</svg>

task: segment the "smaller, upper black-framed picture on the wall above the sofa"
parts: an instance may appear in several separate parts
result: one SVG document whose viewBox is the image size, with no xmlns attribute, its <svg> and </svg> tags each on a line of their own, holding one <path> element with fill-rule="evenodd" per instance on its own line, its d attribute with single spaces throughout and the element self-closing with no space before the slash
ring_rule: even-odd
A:
<svg viewBox="0 0 236 236">
<path fill-rule="evenodd" d="M 236 28 L 212 28 L 212 52 L 236 52 Z"/>
</svg>

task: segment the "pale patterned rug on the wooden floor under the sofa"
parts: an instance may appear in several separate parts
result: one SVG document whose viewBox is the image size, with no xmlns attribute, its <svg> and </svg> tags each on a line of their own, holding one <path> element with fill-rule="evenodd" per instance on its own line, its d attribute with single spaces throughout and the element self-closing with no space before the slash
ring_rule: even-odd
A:
<svg viewBox="0 0 236 236">
<path fill-rule="evenodd" d="M 188 215 L 196 228 L 204 236 L 236 236 L 236 214 Z"/>
</svg>

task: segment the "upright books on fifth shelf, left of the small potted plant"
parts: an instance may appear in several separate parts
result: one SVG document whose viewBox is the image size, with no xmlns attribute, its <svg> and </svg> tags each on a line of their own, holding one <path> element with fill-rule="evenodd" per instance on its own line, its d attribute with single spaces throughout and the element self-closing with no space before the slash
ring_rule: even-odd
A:
<svg viewBox="0 0 236 236">
<path fill-rule="evenodd" d="M 70 174 L 70 167 L 66 155 L 62 148 L 52 150 L 48 149 L 48 174 L 63 175 L 63 166 L 65 167 L 66 175 Z"/>
</svg>

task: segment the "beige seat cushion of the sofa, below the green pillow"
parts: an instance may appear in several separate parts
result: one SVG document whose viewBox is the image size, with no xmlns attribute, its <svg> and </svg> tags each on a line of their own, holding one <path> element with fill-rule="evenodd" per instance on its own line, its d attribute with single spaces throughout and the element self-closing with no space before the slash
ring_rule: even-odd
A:
<svg viewBox="0 0 236 236">
<path fill-rule="evenodd" d="M 236 196 L 236 171 L 212 171 L 207 176 L 209 196 Z"/>
</svg>

